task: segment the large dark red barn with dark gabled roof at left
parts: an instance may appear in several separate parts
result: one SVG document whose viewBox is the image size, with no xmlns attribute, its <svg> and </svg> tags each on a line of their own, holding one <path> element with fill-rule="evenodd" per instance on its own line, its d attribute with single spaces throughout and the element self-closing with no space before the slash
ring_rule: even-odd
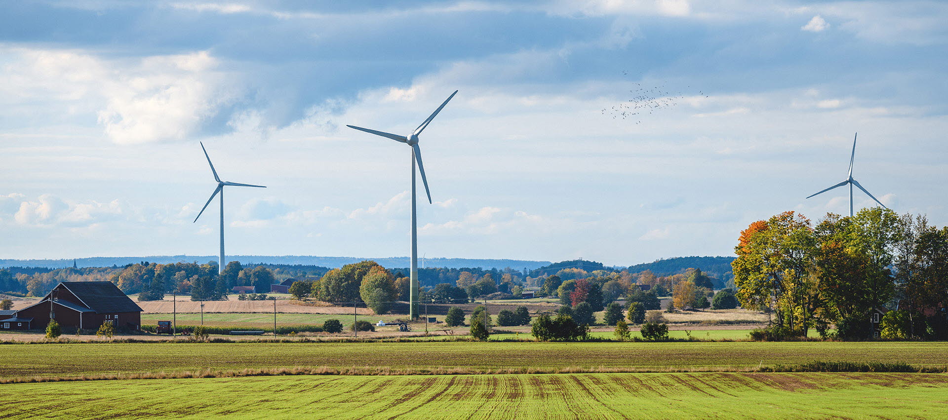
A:
<svg viewBox="0 0 948 420">
<path fill-rule="evenodd" d="M 93 329 L 112 322 L 117 328 L 137 330 L 141 311 L 112 282 L 63 282 L 41 301 L 17 310 L 11 318 L 30 319 L 29 328 L 46 326 L 52 316 L 60 325 L 70 328 Z"/>
</svg>

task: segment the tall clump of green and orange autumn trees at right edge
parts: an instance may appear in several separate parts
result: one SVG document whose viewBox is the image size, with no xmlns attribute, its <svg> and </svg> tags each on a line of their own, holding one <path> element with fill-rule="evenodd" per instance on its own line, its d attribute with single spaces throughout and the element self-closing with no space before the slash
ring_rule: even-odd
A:
<svg viewBox="0 0 948 420">
<path fill-rule="evenodd" d="M 834 325 L 841 338 L 948 338 L 948 228 L 924 216 L 785 211 L 741 231 L 735 252 L 737 299 L 773 314 L 771 337 Z"/>
</svg>

